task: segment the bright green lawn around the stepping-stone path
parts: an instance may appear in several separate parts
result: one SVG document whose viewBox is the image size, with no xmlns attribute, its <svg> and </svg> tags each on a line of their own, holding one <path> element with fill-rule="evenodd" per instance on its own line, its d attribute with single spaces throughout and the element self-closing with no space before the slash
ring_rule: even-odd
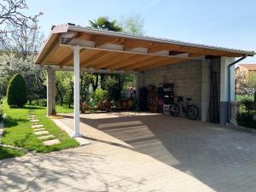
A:
<svg viewBox="0 0 256 192">
<path fill-rule="evenodd" d="M 2 143 L 14 145 L 27 150 L 34 150 L 39 153 L 47 153 L 51 151 L 61 150 L 64 148 L 73 148 L 79 145 L 71 137 L 67 136 L 65 131 L 61 131 L 45 113 L 46 109 L 37 106 L 26 106 L 25 108 L 9 108 L 6 102 L 3 102 L 3 110 L 7 113 L 7 119 L 4 120 L 4 132 Z M 44 146 L 42 141 L 38 140 L 33 134 L 31 123 L 27 119 L 29 110 L 33 110 L 40 124 L 49 131 L 49 134 L 54 135 L 61 143 L 52 146 Z M 3 150 L 3 149 L 2 149 Z M 18 156 L 21 154 L 17 154 Z"/>
</svg>

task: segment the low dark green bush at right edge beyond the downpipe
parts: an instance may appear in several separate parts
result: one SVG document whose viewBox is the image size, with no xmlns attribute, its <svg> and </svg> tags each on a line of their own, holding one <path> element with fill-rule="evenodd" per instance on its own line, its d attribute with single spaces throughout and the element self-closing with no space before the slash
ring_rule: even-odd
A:
<svg viewBox="0 0 256 192">
<path fill-rule="evenodd" d="M 256 113 L 237 113 L 236 122 L 238 125 L 256 128 Z"/>
</svg>

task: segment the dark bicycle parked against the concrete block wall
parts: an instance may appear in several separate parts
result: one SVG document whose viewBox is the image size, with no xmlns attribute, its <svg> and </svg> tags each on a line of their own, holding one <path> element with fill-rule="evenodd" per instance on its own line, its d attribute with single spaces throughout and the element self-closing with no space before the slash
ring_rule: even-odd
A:
<svg viewBox="0 0 256 192">
<path fill-rule="evenodd" d="M 187 102 L 184 102 L 183 96 L 177 96 L 177 102 L 173 102 L 170 105 L 169 112 L 172 117 L 177 117 L 180 113 L 180 108 L 182 112 L 185 113 L 186 117 L 189 119 L 197 119 L 199 116 L 199 109 L 195 105 L 189 104 L 191 98 L 187 98 Z"/>
</svg>

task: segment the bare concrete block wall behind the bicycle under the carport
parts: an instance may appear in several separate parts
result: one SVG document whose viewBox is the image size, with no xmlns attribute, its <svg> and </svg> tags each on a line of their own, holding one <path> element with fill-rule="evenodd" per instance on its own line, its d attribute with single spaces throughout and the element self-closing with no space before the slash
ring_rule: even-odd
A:
<svg viewBox="0 0 256 192">
<path fill-rule="evenodd" d="M 201 117 L 201 83 L 202 61 L 183 61 L 164 67 L 150 69 L 142 73 L 141 86 L 173 83 L 176 96 L 192 98 L 193 104 L 200 109 Z"/>
</svg>

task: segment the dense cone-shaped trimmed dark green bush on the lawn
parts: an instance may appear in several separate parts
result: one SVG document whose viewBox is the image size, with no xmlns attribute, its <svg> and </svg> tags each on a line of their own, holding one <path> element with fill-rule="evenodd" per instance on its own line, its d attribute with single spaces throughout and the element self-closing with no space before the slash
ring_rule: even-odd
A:
<svg viewBox="0 0 256 192">
<path fill-rule="evenodd" d="M 26 80 L 21 74 L 9 80 L 7 88 L 7 103 L 10 107 L 23 107 L 27 102 Z"/>
</svg>

